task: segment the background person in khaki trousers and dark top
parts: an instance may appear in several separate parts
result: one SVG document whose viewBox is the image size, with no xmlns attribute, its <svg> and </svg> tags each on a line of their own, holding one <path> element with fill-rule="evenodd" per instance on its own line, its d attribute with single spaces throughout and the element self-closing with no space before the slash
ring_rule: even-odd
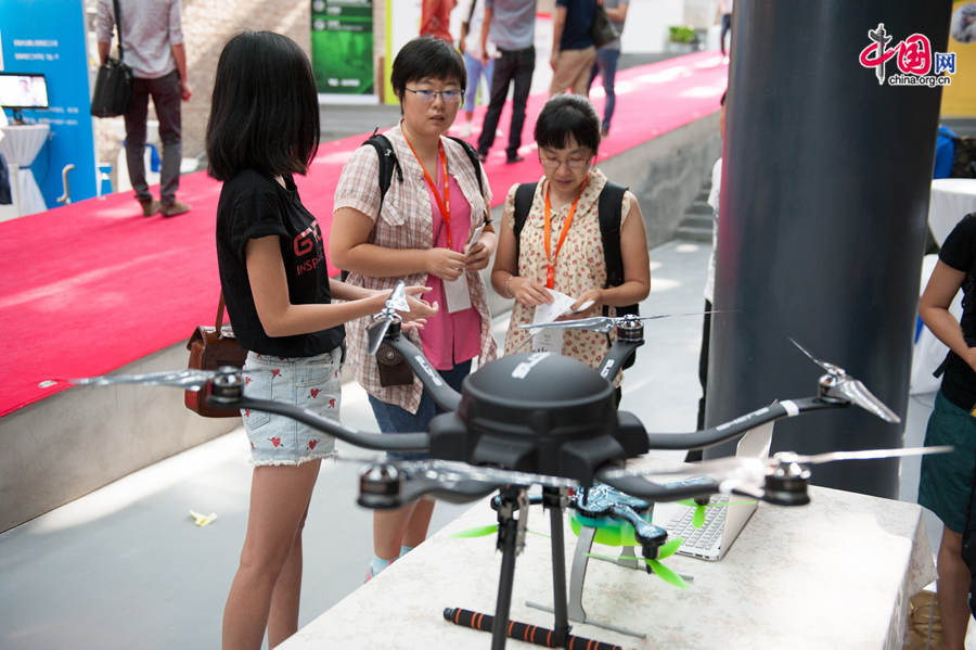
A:
<svg viewBox="0 0 976 650">
<path fill-rule="evenodd" d="M 552 18 L 552 84 L 549 95 L 560 92 L 587 94 L 596 48 L 590 29 L 596 0 L 556 0 Z"/>
</svg>

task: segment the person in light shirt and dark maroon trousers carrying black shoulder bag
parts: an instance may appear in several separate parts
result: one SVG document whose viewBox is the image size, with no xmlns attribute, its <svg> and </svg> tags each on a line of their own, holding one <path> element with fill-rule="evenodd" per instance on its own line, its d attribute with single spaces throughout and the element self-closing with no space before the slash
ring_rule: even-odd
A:
<svg viewBox="0 0 976 650">
<path fill-rule="evenodd" d="M 187 49 L 180 0 L 118 0 L 121 13 L 123 56 L 132 68 L 132 103 L 125 115 L 126 166 L 136 200 L 142 215 L 156 213 L 174 217 L 190 212 L 190 206 L 177 201 L 180 187 L 180 163 L 183 144 L 180 136 L 180 100 L 188 102 L 192 92 L 187 76 Z M 115 29 L 113 0 L 99 0 L 95 35 L 99 61 L 104 64 Z M 145 182 L 145 130 L 149 98 L 153 98 L 163 141 L 163 164 L 159 169 L 159 201 L 153 199 Z"/>
</svg>

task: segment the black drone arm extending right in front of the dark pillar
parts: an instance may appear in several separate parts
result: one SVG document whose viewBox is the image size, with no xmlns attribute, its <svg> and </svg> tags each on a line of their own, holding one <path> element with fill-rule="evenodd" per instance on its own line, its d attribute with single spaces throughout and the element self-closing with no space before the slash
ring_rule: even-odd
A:
<svg viewBox="0 0 976 650">
<path fill-rule="evenodd" d="M 703 449 L 734 439 L 748 430 L 773 420 L 846 406 L 850 406 L 850 403 L 826 400 L 820 397 L 784 399 L 783 402 L 773 402 L 769 406 L 763 406 L 750 413 L 740 416 L 711 429 L 703 429 L 692 433 L 648 433 L 647 444 L 651 449 Z"/>
</svg>

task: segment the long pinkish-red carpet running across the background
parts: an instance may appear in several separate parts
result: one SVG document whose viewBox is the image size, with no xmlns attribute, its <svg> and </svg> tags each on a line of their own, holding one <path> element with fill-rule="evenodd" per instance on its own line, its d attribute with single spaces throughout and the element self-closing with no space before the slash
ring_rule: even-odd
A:
<svg viewBox="0 0 976 650">
<path fill-rule="evenodd" d="M 617 74 L 617 109 L 600 158 L 646 142 L 718 110 L 727 66 L 706 52 Z M 602 115 L 603 100 L 594 104 Z M 547 97 L 529 100 L 523 141 Z M 475 124 L 481 123 L 478 109 Z M 463 117 L 462 117 L 463 119 Z M 499 128 L 508 130 L 509 110 Z M 328 233 L 342 165 L 365 136 L 325 142 L 309 175 L 298 178 L 303 201 Z M 541 176 L 538 161 L 504 164 L 506 138 L 496 139 L 486 170 L 495 195 Z M 0 416 L 64 390 L 38 383 L 87 377 L 189 337 L 210 322 L 219 295 L 214 215 L 220 184 L 204 173 L 184 176 L 179 196 L 193 209 L 143 218 L 131 194 L 112 194 L 0 224 L 0 339 L 7 354 Z"/>
</svg>

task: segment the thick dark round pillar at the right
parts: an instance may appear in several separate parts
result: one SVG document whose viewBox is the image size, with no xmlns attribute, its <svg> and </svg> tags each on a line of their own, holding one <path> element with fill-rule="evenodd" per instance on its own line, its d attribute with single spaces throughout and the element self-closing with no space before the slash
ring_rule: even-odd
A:
<svg viewBox="0 0 976 650">
<path fill-rule="evenodd" d="M 861 379 L 904 417 L 941 90 L 878 84 L 868 31 L 945 52 L 951 2 L 739 0 L 727 100 L 706 423 Z M 887 76 L 900 74 L 891 59 Z M 856 407 L 781 421 L 773 450 L 901 446 Z M 706 457 L 731 453 L 730 446 Z M 814 482 L 898 494 L 898 461 L 821 466 Z"/>
</svg>

